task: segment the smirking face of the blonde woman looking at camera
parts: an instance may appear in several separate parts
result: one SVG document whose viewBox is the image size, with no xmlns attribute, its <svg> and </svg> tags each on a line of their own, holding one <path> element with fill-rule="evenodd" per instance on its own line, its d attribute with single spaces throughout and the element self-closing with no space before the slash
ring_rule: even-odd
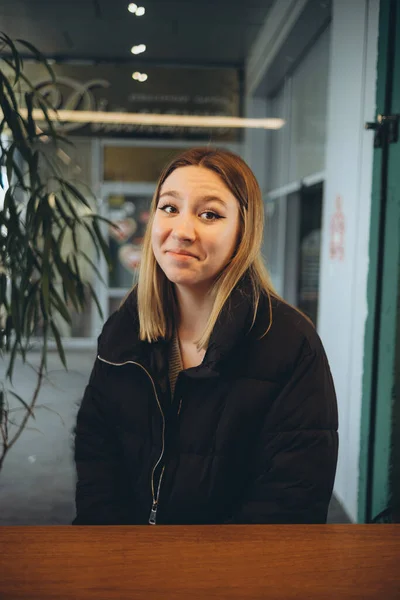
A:
<svg viewBox="0 0 400 600">
<path fill-rule="evenodd" d="M 179 286 L 208 289 L 239 238 L 239 203 L 204 167 L 175 169 L 160 190 L 151 230 L 155 258 Z"/>
</svg>

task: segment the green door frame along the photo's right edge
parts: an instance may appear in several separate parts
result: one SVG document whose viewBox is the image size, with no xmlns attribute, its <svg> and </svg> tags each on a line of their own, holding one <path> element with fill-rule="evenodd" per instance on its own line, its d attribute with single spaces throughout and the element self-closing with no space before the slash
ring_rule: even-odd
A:
<svg viewBox="0 0 400 600">
<path fill-rule="evenodd" d="M 376 115 L 400 113 L 400 0 L 381 1 Z M 371 143 L 373 134 L 371 132 Z M 400 284 L 400 142 L 374 149 L 364 341 L 358 521 L 390 513 L 390 459 Z"/>
</svg>

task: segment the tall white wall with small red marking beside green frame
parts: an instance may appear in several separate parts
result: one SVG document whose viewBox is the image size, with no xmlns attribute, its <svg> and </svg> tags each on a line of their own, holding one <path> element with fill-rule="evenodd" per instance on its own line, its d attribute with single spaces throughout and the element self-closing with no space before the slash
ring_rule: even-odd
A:
<svg viewBox="0 0 400 600">
<path fill-rule="evenodd" d="M 364 330 L 372 183 L 379 0 L 333 0 L 319 332 L 339 403 L 336 495 L 357 519 Z M 330 222 L 340 195 L 344 260 L 331 259 Z"/>
</svg>

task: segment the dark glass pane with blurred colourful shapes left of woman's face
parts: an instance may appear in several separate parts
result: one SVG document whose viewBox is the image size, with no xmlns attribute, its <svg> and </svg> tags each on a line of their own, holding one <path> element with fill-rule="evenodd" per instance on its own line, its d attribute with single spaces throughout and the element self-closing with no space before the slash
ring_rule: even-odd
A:
<svg viewBox="0 0 400 600">
<path fill-rule="evenodd" d="M 109 227 L 111 288 L 130 288 L 137 280 L 150 202 L 149 196 L 139 195 L 108 198 L 108 217 L 115 224 Z"/>
</svg>

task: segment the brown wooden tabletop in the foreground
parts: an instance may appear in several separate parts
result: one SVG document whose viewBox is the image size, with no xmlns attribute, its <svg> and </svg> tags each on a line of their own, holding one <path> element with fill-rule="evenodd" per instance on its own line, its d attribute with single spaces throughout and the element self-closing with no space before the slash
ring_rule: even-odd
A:
<svg viewBox="0 0 400 600">
<path fill-rule="evenodd" d="M 0 527 L 0 598 L 400 599 L 400 525 Z"/>
</svg>

